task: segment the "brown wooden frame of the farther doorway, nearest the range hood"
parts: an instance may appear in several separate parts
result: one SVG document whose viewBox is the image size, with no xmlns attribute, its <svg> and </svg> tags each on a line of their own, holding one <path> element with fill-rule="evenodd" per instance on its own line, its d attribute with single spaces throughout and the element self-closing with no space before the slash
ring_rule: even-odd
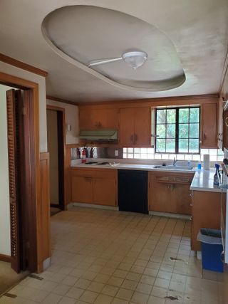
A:
<svg viewBox="0 0 228 304">
<path fill-rule="evenodd" d="M 66 113 L 65 108 L 55 105 L 46 105 L 46 110 L 57 112 L 58 134 L 62 140 L 58 140 L 58 199 L 59 208 L 66 210 Z M 59 116 L 60 115 L 60 116 Z M 61 155 L 61 157 L 59 157 Z M 54 206 L 54 205 L 53 205 Z"/>
</svg>

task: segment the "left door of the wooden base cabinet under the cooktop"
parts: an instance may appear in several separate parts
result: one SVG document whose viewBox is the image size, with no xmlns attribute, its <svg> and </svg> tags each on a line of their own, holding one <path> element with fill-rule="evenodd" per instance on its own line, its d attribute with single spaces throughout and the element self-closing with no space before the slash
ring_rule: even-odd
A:
<svg viewBox="0 0 228 304">
<path fill-rule="evenodd" d="M 93 178 L 73 176 L 72 178 L 72 201 L 78 203 L 93 202 Z"/>
</svg>

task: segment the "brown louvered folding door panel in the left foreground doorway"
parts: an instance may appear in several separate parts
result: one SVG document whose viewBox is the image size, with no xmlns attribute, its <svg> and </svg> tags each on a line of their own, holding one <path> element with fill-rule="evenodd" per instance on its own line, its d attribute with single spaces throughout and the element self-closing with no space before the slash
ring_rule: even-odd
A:
<svg viewBox="0 0 228 304">
<path fill-rule="evenodd" d="M 21 104 L 16 102 L 15 90 L 6 92 L 7 128 L 8 128 L 8 156 L 9 156 L 9 199 L 11 222 L 11 268 L 20 272 L 20 232 L 19 232 L 19 162 L 21 118 L 19 115 Z"/>
</svg>

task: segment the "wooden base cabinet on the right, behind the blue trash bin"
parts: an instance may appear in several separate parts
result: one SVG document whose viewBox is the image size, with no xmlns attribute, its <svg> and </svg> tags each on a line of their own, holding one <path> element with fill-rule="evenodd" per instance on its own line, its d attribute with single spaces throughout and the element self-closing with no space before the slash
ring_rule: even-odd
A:
<svg viewBox="0 0 228 304">
<path fill-rule="evenodd" d="M 201 251 L 197 241 L 201 228 L 220 229 L 221 196 L 221 192 L 192 191 L 192 250 Z"/>
</svg>

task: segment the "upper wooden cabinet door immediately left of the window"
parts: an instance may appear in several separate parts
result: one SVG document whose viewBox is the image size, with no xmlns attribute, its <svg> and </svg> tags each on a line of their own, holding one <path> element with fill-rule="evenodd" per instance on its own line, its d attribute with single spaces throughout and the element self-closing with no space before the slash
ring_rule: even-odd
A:
<svg viewBox="0 0 228 304">
<path fill-rule="evenodd" d="M 135 108 L 135 147 L 150 147 L 150 108 Z"/>
</svg>

